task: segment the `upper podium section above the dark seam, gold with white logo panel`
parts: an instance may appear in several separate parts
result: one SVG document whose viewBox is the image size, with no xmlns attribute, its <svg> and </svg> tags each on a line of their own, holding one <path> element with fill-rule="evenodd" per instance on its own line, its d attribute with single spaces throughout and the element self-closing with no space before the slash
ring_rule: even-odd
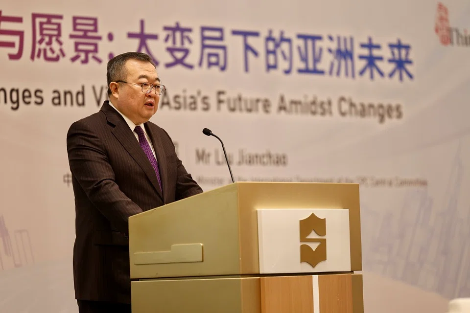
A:
<svg viewBox="0 0 470 313">
<path fill-rule="evenodd" d="M 258 215 L 258 210 L 264 213 Z M 282 249 L 290 251 L 291 265 L 287 267 L 275 262 L 275 253 L 260 253 L 260 246 L 271 252 L 281 248 L 276 246 L 281 244 L 275 239 L 276 230 L 269 230 L 272 223 L 258 221 L 270 219 L 279 210 L 284 210 L 284 218 L 278 219 L 285 221 L 280 226 L 295 224 L 284 229 L 291 238 L 282 243 Z M 299 223 L 309 223 L 311 215 L 296 216 L 301 210 L 317 210 L 317 218 L 326 220 L 325 236 L 314 239 L 299 233 Z M 313 246 L 315 240 L 318 247 Z M 362 270 L 359 186 L 230 184 L 130 217 L 129 245 L 132 279 Z M 325 258 L 322 249 L 327 259 L 317 260 L 320 262 L 315 266 L 310 260 L 312 264 L 307 266 L 312 255 Z M 278 256 L 287 257 L 285 253 Z"/>
</svg>

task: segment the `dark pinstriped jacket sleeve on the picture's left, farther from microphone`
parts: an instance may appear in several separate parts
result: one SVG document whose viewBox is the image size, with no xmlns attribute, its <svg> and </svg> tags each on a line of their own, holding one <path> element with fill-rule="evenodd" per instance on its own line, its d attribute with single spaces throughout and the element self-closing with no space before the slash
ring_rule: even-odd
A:
<svg viewBox="0 0 470 313">
<path fill-rule="evenodd" d="M 67 152 L 72 177 L 88 199 L 115 228 L 128 234 L 129 216 L 142 209 L 119 189 L 106 149 L 85 120 L 71 125 Z"/>
</svg>

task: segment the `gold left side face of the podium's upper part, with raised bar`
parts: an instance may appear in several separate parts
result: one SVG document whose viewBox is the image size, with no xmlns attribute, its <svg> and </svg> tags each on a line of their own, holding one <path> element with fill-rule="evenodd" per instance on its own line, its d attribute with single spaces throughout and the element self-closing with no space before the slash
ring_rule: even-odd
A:
<svg viewBox="0 0 470 313">
<path fill-rule="evenodd" d="M 240 272 L 235 185 L 129 218 L 131 278 Z"/>
</svg>

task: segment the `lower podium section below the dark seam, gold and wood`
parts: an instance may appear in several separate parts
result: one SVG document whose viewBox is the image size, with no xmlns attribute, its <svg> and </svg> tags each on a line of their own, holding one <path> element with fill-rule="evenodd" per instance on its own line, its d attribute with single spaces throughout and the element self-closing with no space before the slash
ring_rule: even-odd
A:
<svg viewBox="0 0 470 313">
<path fill-rule="evenodd" d="M 362 274 L 216 276 L 132 283 L 133 313 L 363 313 Z"/>
</svg>

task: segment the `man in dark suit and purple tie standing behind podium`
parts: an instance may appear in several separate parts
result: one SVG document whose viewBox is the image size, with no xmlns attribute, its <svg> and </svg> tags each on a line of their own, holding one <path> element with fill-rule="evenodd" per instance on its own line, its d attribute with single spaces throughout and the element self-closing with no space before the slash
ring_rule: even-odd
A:
<svg viewBox="0 0 470 313">
<path fill-rule="evenodd" d="M 109 101 L 67 134 L 80 313 L 131 312 L 129 216 L 202 192 L 166 131 L 148 121 L 165 90 L 152 59 L 118 55 L 108 62 L 107 81 Z"/>
</svg>

